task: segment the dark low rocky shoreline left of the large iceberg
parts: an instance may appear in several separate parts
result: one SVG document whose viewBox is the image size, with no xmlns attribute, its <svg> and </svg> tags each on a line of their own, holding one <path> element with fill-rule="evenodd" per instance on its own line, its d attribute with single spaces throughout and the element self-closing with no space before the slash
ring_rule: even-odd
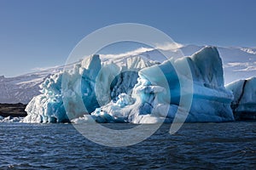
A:
<svg viewBox="0 0 256 170">
<path fill-rule="evenodd" d="M 7 117 L 19 117 L 27 116 L 25 111 L 26 105 L 17 103 L 17 104 L 0 104 L 0 116 Z"/>
</svg>

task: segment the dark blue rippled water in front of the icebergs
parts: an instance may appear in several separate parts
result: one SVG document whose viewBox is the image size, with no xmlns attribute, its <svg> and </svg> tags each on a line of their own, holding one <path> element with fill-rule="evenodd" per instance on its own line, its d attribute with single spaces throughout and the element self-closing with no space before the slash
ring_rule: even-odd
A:
<svg viewBox="0 0 256 170">
<path fill-rule="evenodd" d="M 170 135 L 164 124 L 142 143 L 110 148 L 85 139 L 71 124 L 0 123 L 0 169 L 255 169 L 255 125 L 187 123 Z"/>
</svg>

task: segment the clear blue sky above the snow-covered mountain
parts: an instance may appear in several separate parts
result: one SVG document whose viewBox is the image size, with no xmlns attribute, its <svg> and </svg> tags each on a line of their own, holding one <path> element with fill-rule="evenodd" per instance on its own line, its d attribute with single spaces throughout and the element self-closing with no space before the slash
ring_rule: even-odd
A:
<svg viewBox="0 0 256 170">
<path fill-rule="evenodd" d="M 0 0 L 0 76 L 64 65 L 91 32 L 153 26 L 175 42 L 256 47 L 254 0 Z"/>
</svg>

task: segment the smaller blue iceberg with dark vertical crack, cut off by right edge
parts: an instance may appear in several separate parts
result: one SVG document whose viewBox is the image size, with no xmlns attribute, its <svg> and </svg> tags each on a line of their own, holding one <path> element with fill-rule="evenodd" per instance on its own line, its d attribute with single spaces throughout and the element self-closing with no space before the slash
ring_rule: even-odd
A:
<svg viewBox="0 0 256 170">
<path fill-rule="evenodd" d="M 256 77 L 231 82 L 226 88 L 234 94 L 231 108 L 236 120 L 256 120 Z"/>
</svg>

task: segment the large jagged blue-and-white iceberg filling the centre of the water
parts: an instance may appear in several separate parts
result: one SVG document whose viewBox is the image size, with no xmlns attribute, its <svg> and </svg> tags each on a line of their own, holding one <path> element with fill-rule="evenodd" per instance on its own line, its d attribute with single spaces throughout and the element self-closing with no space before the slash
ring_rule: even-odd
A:
<svg viewBox="0 0 256 170">
<path fill-rule="evenodd" d="M 186 122 L 234 121 L 233 94 L 224 88 L 222 60 L 214 47 L 162 63 L 141 56 L 114 63 L 92 55 L 47 78 L 40 88 L 23 122 L 172 122 L 187 116 L 180 105 L 187 96 L 192 104 Z"/>
</svg>

